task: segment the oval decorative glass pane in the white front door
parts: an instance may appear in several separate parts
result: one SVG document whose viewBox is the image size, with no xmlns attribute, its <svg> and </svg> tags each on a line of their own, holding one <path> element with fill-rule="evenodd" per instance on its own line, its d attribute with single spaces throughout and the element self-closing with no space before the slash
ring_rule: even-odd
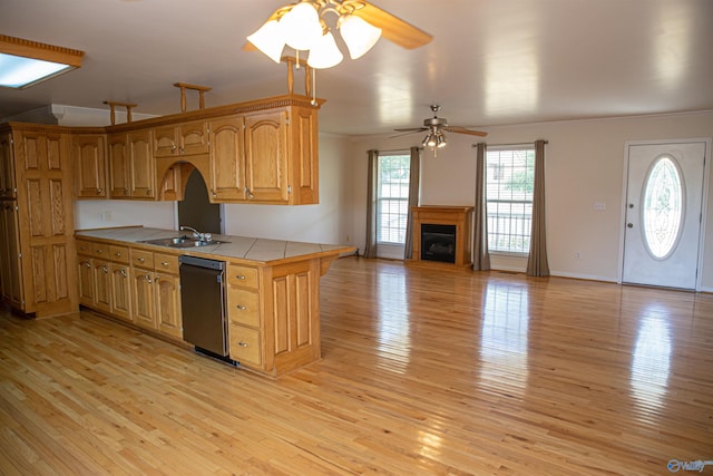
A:
<svg viewBox="0 0 713 476">
<path fill-rule="evenodd" d="M 675 250 L 683 230 L 683 181 L 671 157 L 657 158 L 644 186 L 642 222 L 644 243 L 656 260 L 665 260 Z"/>
</svg>

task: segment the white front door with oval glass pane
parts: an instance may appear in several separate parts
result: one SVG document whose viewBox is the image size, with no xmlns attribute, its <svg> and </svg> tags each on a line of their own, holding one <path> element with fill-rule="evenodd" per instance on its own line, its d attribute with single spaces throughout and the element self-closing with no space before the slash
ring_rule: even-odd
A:
<svg viewBox="0 0 713 476">
<path fill-rule="evenodd" d="M 696 288 L 706 145 L 628 145 L 623 282 Z"/>
</svg>

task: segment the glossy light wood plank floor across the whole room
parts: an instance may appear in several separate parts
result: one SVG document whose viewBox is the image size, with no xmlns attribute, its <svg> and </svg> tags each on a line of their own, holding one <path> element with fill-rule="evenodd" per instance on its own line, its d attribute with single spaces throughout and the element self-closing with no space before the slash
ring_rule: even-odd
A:
<svg viewBox="0 0 713 476">
<path fill-rule="evenodd" d="M 711 294 L 348 258 L 321 303 L 323 359 L 277 380 L 89 312 L 1 313 L 0 474 L 664 475 L 713 459 Z"/>
</svg>

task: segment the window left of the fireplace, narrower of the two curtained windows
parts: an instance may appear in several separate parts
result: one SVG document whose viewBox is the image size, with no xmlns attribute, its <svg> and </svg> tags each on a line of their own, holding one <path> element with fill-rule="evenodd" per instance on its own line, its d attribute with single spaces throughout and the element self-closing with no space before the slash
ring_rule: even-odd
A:
<svg viewBox="0 0 713 476">
<path fill-rule="evenodd" d="M 404 244 L 409 213 L 409 154 L 379 156 L 377 185 L 377 242 Z"/>
</svg>

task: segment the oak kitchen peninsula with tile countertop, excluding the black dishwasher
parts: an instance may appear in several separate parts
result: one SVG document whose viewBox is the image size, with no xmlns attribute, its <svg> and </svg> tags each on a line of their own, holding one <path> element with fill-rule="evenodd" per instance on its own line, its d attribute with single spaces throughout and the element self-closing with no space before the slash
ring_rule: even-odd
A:
<svg viewBox="0 0 713 476">
<path fill-rule="evenodd" d="M 141 243 L 183 234 L 143 226 L 77 231 L 80 303 L 183 339 L 178 256 L 219 260 L 227 270 L 231 359 L 274 377 L 321 357 L 320 276 L 353 247 L 233 235 L 189 249 Z"/>
</svg>

